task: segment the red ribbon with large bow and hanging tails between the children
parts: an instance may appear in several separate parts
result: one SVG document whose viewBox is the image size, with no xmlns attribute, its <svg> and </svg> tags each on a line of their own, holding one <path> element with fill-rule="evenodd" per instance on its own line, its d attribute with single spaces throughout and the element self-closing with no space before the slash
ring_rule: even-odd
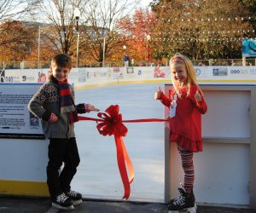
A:
<svg viewBox="0 0 256 213">
<path fill-rule="evenodd" d="M 105 113 L 106 112 L 106 113 Z M 131 163 L 131 159 L 126 151 L 123 136 L 127 135 L 128 129 L 124 123 L 137 123 L 137 122 L 163 122 L 166 119 L 148 118 L 148 119 L 135 119 L 135 120 L 123 120 L 122 114 L 119 114 L 119 105 L 111 105 L 105 112 L 98 112 L 99 118 L 88 118 L 79 116 L 79 120 L 91 120 L 96 121 L 96 128 L 103 136 L 114 135 L 114 141 L 117 150 L 117 161 L 119 165 L 119 173 L 123 181 L 125 188 L 125 194 L 123 199 L 129 199 L 131 192 L 131 182 L 134 179 L 134 170 Z M 127 174 L 126 166 L 128 167 L 129 174 Z"/>
</svg>

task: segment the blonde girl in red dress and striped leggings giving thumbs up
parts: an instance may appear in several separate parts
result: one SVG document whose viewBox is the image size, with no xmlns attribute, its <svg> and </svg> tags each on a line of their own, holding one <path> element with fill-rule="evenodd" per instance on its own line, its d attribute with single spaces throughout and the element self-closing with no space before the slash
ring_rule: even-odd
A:
<svg viewBox="0 0 256 213">
<path fill-rule="evenodd" d="M 170 141 L 177 143 L 184 170 L 184 183 L 178 188 L 179 196 L 170 201 L 168 209 L 171 212 L 195 212 L 193 153 L 202 151 L 201 114 L 207 112 L 207 103 L 196 83 L 195 68 L 191 60 L 176 54 L 170 60 L 170 66 L 173 84 L 170 98 L 160 87 L 154 98 L 170 108 Z"/>
</svg>

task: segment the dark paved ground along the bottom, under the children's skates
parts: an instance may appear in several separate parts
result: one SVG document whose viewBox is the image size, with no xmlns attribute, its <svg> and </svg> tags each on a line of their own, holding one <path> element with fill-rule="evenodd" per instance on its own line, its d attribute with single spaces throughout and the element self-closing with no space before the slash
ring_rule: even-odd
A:
<svg viewBox="0 0 256 213">
<path fill-rule="evenodd" d="M 0 197 L 1 213 L 62 213 L 49 206 L 49 199 Z M 82 204 L 75 206 L 73 213 L 167 213 L 167 205 L 160 203 L 129 202 L 84 199 Z M 244 208 L 224 208 L 212 206 L 198 206 L 197 213 L 256 213 L 256 210 Z"/>
</svg>

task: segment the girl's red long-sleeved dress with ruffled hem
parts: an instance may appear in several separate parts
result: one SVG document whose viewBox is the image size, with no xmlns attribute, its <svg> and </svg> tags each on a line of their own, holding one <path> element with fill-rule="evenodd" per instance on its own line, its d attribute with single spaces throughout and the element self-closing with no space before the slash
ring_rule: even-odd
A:
<svg viewBox="0 0 256 213">
<path fill-rule="evenodd" d="M 207 103 L 204 100 L 198 86 L 190 86 L 190 92 L 187 96 L 187 89 L 180 89 L 181 97 L 177 98 L 177 108 L 174 118 L 169 118 L 170 141 L 176 141 L 178 147 L 193 153 L 202 151 L 201 138 L 201 114 L 207 112 Z M 195 100 L 195 93 L 199 90 L 201 101 Z M 171 107 L 175 90 L 170 90 L 170 97 L 164 93 L 160 95 L 160 101 L 166 106 Z"/>
</svg>

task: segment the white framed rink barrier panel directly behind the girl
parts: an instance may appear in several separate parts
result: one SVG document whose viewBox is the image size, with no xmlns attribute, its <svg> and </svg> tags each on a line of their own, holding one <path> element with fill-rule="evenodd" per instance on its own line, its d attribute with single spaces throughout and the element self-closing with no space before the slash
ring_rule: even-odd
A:
<svg viewBox="0 0 256 213">
<path fill-rule="evenodd" d="M 166 85 L 169 94 L 171 85 Z M 195 197 L 199 203 L 256 208 L 256 87 L 201 85 L 208 111 L 202 115 L 204 150 L 195 153 Z M 168 110 L 166 109 L 166 118 Z M 166 124 L 166 202 L 177 196 L 183 170 Z"/>
</svg>

